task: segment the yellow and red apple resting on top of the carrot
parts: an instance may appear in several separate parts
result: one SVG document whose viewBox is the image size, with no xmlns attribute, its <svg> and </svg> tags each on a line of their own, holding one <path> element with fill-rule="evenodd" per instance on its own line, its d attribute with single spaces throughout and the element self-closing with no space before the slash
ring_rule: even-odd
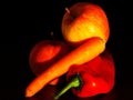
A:
<svg viewBox="0 0 133 100">
<path fill-rule="evenodd" d="M 79 43 L 93 37 L 106 42 L 110 34 L 104 10 L 90 2 L 78 2 L 70 7 L 63 16 L 61 30 L 64 39 L 70 43 Z"/>
</svg>

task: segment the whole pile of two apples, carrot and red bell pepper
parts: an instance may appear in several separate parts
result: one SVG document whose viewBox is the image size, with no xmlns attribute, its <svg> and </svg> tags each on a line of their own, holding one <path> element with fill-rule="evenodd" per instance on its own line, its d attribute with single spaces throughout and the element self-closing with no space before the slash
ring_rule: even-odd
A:
<svg viewBox="0 0 133 100">
<path fill-rule="evenodd" d="M 68 89 L 80 97 L 93 97 L 112 90 L 115 80 L 114 62 L 106 53 L 110 26 L 104 10 L 94 3 L 78 2 L 65 8 L 61 23 L 65 41 L 43 40 L 30 52 L 30 67 L 37 78 L 27 87 L 32 97 L 47 84 L 55 86 L 66 74 Z"/>
</svg>

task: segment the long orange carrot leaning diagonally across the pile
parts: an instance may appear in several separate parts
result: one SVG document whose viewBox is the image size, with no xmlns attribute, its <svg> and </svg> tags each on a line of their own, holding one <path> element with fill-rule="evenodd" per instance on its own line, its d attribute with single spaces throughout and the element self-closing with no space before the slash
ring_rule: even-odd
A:
<svg viewBox="0 0 133 100">
<path fill-rule="evenodd" d="M 105 49 L 105 42 L 100 38 L 92 38 L 61 58 L 48 70 L 38 76 L 25 89 L 25 97 L 32 97 L 51 80 L 66 73 L 72 64 L 82 64 L 92 60 Z"/>
</svg>

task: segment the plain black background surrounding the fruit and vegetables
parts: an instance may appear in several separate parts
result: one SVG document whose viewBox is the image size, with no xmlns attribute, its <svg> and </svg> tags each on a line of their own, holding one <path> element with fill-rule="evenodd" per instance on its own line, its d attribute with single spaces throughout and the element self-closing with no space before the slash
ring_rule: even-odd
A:
<svg viewBox="0 0 133 100">
<path fill-rule="evenodd" d="M 48 0 L 43 2 L 4 2 L 1 13 L 1 87 L 0 100 L 24 100 L 24 89 L 33 80 L 29 52 L 40 40 L 61 36 L 64 8 L 79 1 L 101 6 L 110 22 L 111 36 L 106 48 L 114 57 L 116 84 L 113 100 L 132 98 L 132 31 L 127 0 Z M 108 99 L 106 99 L 108 100 Z"/>
</svg>

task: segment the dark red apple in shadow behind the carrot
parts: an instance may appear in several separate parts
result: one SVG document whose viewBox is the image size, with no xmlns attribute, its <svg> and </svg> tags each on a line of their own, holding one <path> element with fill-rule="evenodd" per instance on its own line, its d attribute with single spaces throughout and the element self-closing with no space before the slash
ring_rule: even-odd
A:
<svg viewBox="0 0 133 100">
<path fill-rule="evenodd" d="M 29 63 L 32 72 L 39 76 L 60 58 L 70 52 L 71 47 L 60 40 L 42 40 L 37 42 L 30 51 Z M 57 84 L 54 79 L 50 84 Z"/>
</svg>

